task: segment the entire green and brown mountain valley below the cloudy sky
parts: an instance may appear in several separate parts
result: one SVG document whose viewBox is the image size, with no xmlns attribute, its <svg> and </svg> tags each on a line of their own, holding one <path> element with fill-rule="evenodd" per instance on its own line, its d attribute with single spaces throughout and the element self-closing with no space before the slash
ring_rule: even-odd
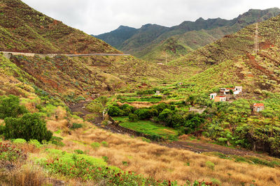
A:
<svg viewBox="0 0 280 186">
<path fill-rule="evenodd" d="M 120 26 L 116 49 L 0 0 L 0 185 L 279 185 L 279 13 Z"/>
</svg>

